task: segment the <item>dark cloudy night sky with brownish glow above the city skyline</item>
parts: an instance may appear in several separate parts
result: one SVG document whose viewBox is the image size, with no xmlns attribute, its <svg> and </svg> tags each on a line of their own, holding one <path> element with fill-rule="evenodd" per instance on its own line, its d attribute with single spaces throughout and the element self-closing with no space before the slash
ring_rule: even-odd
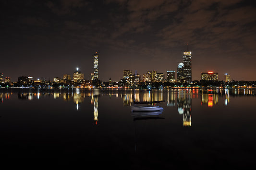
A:
<svg viewBox="0 0 256 170">
<path fill-rule="evenodd" d="M 96 51 L 102 81 L 123 70 L 166 76 L 187 48 L 192 80 L 208 71 L 256 80 L 254 0 L 1 0 L 0 13 L 0 73 L 11 81 L 76 67 L 89 79 Z"/>
</svg>

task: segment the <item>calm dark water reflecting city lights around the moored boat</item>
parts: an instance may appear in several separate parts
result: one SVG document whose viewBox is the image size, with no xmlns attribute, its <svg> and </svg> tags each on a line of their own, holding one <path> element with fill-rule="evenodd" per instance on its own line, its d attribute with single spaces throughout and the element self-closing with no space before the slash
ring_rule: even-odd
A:
<svg viewBox="0 0 256 170">
<path fill-rule="evenodd" d="M 158 115 L 133 100 L 165 100 Z M 253 89 L 0 89 L 1 161 L 115 169 L 244 168 L 256 153 Z"/>
</svg>

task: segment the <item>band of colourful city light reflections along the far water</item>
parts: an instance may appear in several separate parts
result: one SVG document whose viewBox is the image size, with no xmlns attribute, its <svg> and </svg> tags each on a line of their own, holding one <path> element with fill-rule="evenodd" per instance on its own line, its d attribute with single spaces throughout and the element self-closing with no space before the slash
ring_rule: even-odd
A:
<svg viewBox="0 0 256 170">
<path fill-rule="evenodd" d="M 90 98 L 90 103 L 94 105 L 94 121 L 98 122 L 99 97 L 109 96 L 122 98 L 123 107 L 132 106 L 133 101 L 162 101 L 160 105 L 167 107 L 177 106 L 177 113 L 183 114 L 183 126 L 192 125 L 192 100 L 201 99 L 201 106 L 213 108 L 223 98 L 223 105 L 230 103 L 231 97 L 255 96 L 255 89 L 171 89 L 171 90 L 132 90 L 132 89 L 71 89 L 71 90 L 35 90 L 23 92 L 2 92 L 0 93 L 0 103 L 5 100 L 17 97 L 19 100 L 39 100 L 46 97 L 62 99 L 66 102 L 73 102 L 75 109 L 78 111 L 80 105 L 86 97 Z M 196 100 L 198 101 L 198 100 Z"/>
</svg>

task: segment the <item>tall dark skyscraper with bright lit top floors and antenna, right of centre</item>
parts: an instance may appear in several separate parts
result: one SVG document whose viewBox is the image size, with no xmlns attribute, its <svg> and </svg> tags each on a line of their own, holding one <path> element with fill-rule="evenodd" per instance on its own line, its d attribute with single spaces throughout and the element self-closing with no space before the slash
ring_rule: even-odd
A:
<svg viewBox="0 0 256 170">
<path fill-rule="evenodd" d="M 183 73 L 184 73 L 184 80 L 187 83 L 192 82 L 192 64 L 191 64 L 191 51 L 183 52 Z"/>
</svg>

